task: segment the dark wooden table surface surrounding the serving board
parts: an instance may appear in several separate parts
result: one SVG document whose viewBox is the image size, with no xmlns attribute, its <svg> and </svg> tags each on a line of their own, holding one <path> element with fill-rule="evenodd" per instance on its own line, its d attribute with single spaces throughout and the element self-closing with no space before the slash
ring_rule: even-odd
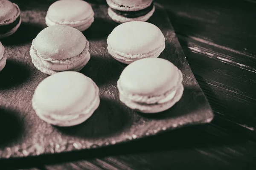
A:
<svg viewBox="0 0 256 170">
<path fill-rule="evenodd" d="M 256 169 L 256 1 L 158 2 L 215 119 L 113 147 L 5 161 L 1 170 Z"/>
</svg>

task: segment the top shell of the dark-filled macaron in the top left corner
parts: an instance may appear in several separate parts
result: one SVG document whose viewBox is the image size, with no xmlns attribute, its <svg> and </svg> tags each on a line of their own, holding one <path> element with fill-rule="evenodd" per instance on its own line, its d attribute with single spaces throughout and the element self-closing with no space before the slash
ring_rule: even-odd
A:
<svg viewBox="0 0 256 170">
<path fill-rule="evenodd" d="M 9 0 L 0 0 L 0 24 L 8 24 L 17 18 L 20 11 Z"/>
</svg>

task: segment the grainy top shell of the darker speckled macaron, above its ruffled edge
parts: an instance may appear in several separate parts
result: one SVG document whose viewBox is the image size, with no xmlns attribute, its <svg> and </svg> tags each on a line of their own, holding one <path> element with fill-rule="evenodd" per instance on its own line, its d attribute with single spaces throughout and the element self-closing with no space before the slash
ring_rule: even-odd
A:
<svg viewBox="0 0 256 170">
<path fill-rule="evenodd" d="M 86 38 L 76 28 L 57 25 L 44 28 L 32 45 L 41 55 L 60 60 L 79 55 L 86 43 Z"/>
</svg>

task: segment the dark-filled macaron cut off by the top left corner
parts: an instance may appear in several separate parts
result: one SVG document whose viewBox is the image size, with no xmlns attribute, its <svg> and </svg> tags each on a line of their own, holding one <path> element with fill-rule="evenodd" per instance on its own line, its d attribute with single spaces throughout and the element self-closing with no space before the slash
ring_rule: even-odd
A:
<svg viewBox="0 0 256 170">
<path fill-rule="evenodd" d="M 20 8 L 9 0 L 0 0 L 0 38 L 14 34 L 20 23 Z"/>
</svg>

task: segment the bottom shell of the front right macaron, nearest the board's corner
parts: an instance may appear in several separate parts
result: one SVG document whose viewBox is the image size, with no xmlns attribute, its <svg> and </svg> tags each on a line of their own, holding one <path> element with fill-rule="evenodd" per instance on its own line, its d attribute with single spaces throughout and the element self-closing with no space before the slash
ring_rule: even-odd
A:
<svg viewBox="0 0 256 170">
<path fill-rule="evenodd" d="M 159 113 L 162 111 L 166 111 L 169 108 L 171 108 L 173 105 L 175 105 L 183 95 L 183 85 L 180 85 L 179 88 L 177 88 L 175 96 L 170 99 L 167 102 L 164 103 L 157 103 L 157 104 L 142 104 L 138 102 L 133 102 L 130 99 L 126 98 L 126 96 L 123 96 L 122 94 L 119 95 L 119 99 L 121 102 L 123 102 L 126 106 L 128 106 L 131 109 L 134 109 L 136 111 L 142 112 L 142 113 Z"/>
</svg>

